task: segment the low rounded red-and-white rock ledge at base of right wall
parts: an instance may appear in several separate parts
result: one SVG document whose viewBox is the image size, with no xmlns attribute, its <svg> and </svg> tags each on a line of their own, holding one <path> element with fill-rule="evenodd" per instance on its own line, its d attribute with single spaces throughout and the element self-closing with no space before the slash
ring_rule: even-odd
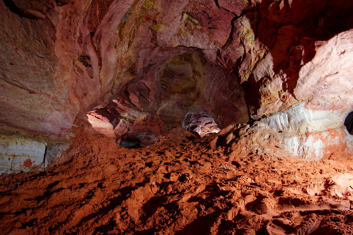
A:
<svg viewBox="0 0 353 235">
<path fill-rule="evenodd" d="M 287 130 L 277 131 L 262 122 L 227 126 L 211 143 L 216 147 L 229 148 L 234 153 L 266 152 L 299 157 L 305 161 L 318 161 L 336 152 L 353 151 L 353 136 L 345 128 L 298 135 Z"/>
</svg>

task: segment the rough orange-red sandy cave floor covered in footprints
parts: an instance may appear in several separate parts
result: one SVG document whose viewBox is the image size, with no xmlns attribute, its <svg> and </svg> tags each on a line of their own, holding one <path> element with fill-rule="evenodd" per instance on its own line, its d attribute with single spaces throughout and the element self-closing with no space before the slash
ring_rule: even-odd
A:
<svg viewBox="0 0 353 235">
<path fill-rule="evenodd" d="M 73 131 L 70 161 L 2 175 L 1 234 L 353 234 L 353 160 L 338 152 L 305 162 L 192 135 L 126 149 Z"/>
</svg>

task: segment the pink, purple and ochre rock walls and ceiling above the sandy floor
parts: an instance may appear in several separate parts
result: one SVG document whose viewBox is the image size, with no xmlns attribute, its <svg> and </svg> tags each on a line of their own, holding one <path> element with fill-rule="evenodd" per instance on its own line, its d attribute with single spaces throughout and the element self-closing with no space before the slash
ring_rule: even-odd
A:
<svg viewBox="0 0 353 235">
<path fill-rule="evenodd" d="M 308 160 L 329 154 L 328 145 L 347 150 L 352 7 L 349 0 L 0 1 L 2 131 L 64 139 L 87 114 L 111 137 L 160 138 L 186 113 L 206 112 L 220 128 L 260 120 L 284 131 L 288 151 Z"/>
</svg>

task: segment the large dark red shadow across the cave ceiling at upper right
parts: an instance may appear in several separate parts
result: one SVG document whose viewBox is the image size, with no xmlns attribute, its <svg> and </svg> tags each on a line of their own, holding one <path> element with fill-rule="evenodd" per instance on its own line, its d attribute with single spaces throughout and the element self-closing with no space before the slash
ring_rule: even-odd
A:
<svg viewBox="0 0 353 235">
<path fill-rule="evenodd" d="M 295 70 L 315 56 L 316 41 L 327 41 L 353 28 L 352 10 L 353 2 L 345 0 L 328 5 L 323 1 L 293 1 L 289 5 L 286 1 L 264 0 L 256 13 L 247 14 L 255 37 L 270 49 L 274 72 L 281 69 L 289 78 L 296 79 Z"/>
</svg>

